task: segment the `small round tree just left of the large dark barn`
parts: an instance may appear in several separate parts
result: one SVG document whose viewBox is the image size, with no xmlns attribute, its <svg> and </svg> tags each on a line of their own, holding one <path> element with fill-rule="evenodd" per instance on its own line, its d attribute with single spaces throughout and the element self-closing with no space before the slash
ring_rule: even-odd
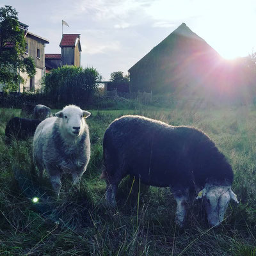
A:
<svg viewBox="0 0 256 256">
<path fill-rule="evenodd" d="M 124 76 L 124 72 L 117 71 L 110 74 L 110 88 L 117 88 L 118 92 L 129 92 L 130 77 Z"/>
</svg>

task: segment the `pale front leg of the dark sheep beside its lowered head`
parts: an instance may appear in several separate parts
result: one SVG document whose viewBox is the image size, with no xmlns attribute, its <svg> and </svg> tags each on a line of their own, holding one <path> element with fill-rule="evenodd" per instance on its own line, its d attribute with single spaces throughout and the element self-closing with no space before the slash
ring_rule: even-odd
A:
<svg viewBox="0 0 256 256">
<path fill-rule="evenodd" d="M 177 202 L 175 221 L 179 224 L 180 227 L 182 227 L 184 225 L 186 216 L 188 195 L 186 195 L 186 193 L 173 193 L 173 196 Z"/>
</svg>

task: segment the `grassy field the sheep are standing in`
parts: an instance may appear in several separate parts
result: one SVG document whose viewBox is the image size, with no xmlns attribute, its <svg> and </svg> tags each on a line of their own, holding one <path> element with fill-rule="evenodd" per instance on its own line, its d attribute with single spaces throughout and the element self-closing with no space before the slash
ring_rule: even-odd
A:
<svg viewBox="0 0 256 256">
<path fill-rule="evenodd" d="M 139 108 L 92 112 L 92 156 L 81 189 L 69 191 L 64 177 L 60 199 L 47 175 L 31 163 L 31 140 L 4 144 L 6 122 L 20 109 L 0 109 L 0 255 L 256 255 L 256 109 Z M 206 132 L 232 164 L 233 191 L 225 221 L 209 228 L 200 202 L 193 202 L 186 226 L 175 225 L 170 189 L 129 194 L 129 179 L 118 188 L 118 209 L 104 199 L 102 137 L 115 118 L 138 114 Z M 33 196 L 39 202 L 31 201 Z"/>
</svg>

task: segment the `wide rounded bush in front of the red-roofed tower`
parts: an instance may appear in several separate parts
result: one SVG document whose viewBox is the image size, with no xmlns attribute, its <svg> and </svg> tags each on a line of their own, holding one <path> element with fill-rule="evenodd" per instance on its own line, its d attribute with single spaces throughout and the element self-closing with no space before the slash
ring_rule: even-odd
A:
<svg viewBox="0 0 256 256">
<path fill-rule="evenodd" d="M 54 102 L 81 104 L 92 97 L 101 76 L 95 68 L 60 67 L 43 79 L 45 93 Z"/>
</svg>

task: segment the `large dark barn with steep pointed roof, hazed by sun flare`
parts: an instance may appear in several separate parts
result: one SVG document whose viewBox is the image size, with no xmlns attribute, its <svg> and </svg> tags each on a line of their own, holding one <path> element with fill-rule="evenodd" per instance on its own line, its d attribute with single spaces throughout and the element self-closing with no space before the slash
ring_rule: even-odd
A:
<svg viewBox="0 0 256 256">
<path fill-rule="evenodd" d="M 129 68 L 132 92 L 180 95 L 241 95 L 250 77 L 241 62 L 224 60 L 211 45 L 182 23 Z"/>
</svg>

